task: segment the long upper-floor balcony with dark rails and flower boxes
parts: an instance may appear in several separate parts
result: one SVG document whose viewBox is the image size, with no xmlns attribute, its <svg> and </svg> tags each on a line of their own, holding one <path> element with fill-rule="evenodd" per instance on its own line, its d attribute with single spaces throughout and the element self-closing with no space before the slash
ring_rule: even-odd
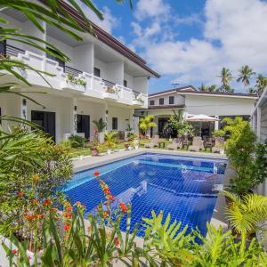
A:
<svg viewBox="0 0 267 267">
<path fill-rule="evenodd" d="M 53 90 L 61 90 L 72 94 L 83 94 L 93 98 L 106 101 L 115 101 L 120 104 L 132 106 L 133 108 L 147 107 L 147 94 L 139 93 L 123 85 L 117 85 L 111 81 L 95 77 L 80 69 L 69 67 L 65 62 L 48 58 L 29 51 L 24 51 L 10 44 L 0 45 L 0 53 L 8 55 L 13 59 L 24 61 L 33 69 L 42 70 L 53 74 L 44 75 L 44 78 L 30 69 L 18 69 L 21 75 L 28 79 L 32 85 L 49 87 Z M 13 78 L 13 77 L 12 77 Z"/>
</svg>

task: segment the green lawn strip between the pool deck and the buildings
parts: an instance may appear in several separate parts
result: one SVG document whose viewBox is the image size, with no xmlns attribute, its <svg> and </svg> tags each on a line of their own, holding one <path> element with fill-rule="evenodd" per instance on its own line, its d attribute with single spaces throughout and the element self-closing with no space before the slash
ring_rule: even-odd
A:
<svg viewBox="0 0 267 267">
<path fill-rule="evenodd" d="M 144 144 L 146 142 L 150 142 L 150 140 L 141 140 L 140 141 L 140 147 L 143 148 Z M 164 148 L 157 148 L 159 150 L 166 150 L 168 144 L 170 143 L 166 139 L 160 139 L 160 142 L 165 142 L 165 149 Z M 116 145 L 117 150 L 124 150 L 125 149 L 125 142 L 119 142 Z M 179 150 L 178 150 L 179 151 Z M 187 151 L 186 149 L 183 149 L 181 151 Z M 106 152 L 106 150 L 101 150 L 100 152 Z M 209 149 L 201 151 L 203 153 L 211 153 Z M 78 149 L 70 149 L 70 155 L 72 158 L 77 158 L 79 156 L 90 156 L 91 155 L 91 150 L 89 148 L 78 148 Z"/>
</svg>

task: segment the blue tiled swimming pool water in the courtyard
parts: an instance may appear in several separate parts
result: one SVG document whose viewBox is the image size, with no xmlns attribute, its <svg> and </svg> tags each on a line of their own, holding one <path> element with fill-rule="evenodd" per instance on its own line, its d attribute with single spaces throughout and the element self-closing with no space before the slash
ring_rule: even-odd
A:
<svg viewBox="0 0 267 267">
<path fill-rule="evenodd" d="M 214 184 L 223 183 L 225 166 L 226 161 L 221 159 L 146 153 L 74 174 L 61 190 L 72 204 L 80 201 L 86 213 L 93 213 L 105 200 L 93 177 L 97 170 L 117 201 L 131 203 L 132 229 L 154 210 L 156 214 L 164 211 L 165 217 L 170 213 L 182 227 L 188 224 L 189 231 L 198 227 L 205 235 L 217 198 Z M 121 228 L 125 230 L 125 220 Z M 142 234 L 139 226 L 138 235 Z"/>
</svg>

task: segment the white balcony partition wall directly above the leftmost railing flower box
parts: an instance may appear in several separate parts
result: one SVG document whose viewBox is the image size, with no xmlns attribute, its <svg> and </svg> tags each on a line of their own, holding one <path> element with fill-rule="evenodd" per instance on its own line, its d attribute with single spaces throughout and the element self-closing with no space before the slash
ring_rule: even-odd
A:
<svg viewBox="0 0 267 267">
<path fill-rule="evenodd" d="M 71 57 L 72 65 L 75 69 L 82 70 L 87 73 L 93 73 L 94 52 L 93 43 L 77 45 L 73 48 Z"/>
</svg>

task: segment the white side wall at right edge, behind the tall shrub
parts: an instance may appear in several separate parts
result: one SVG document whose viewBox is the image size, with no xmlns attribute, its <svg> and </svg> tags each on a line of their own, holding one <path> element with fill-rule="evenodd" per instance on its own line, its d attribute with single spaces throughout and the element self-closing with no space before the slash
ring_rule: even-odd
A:
<svg viewBox="0 0 267 267">
<path fill-rule="evenodd" d="M 258 137 L 258 142 L 267 140 L 267 88 L 252 111 L 252 126 Z M 267 177 L 266 177 L 267 179 Z M 258 187 L 258 193 L 267 196 L 267 180 Z"/>
</svg>

